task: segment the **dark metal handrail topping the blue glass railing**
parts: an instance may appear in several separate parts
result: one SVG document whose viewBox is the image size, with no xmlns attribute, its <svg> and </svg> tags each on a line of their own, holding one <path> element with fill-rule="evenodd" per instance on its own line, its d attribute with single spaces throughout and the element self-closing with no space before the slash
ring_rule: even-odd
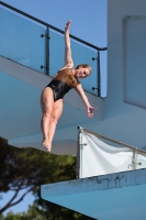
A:
<svg viewBox="0 0 146 220">
<path fill-rule="evenodd" d="M 24 16 L 27 16 L 29 19 L 32 19 L 32 20 L 34 20 L 34 21 L 36 21 L 36 22 L 43 24 L 43 25 L 46 25 L 47 28 L 50 28 L 50 29 L 53 29 L 54 31 L 57 31 L 57 32 L 59 32 L 59 33 L 61 33 L 61 34 L 65 33 L 65 32 L 61 31 L 60 29 L 57 29 L 57 28 L 55 28 L 55 26 L 53 26 L 53 25 L 50 25 L 50 24 L 48 24 L 48 23 L 46 23 L 46 22 L 44 22 L 44 21 L 42 21 L 42 20 L 35 18 L 35 16 L 30 15 L 29 13 L 25 13 L 25 12 L 23 12 L 23 11 L 16 9 L 16 8 L 14 8 L 14 7 L 11 7 L 10 4 L 7 4 L 7 3 L 4 3 L 3 1 L 0 1 L 0 4 L 1 4 L 1 6 L 4 6 L 4 7 L 8 8 L 8 9 L 11 9 L 11 10 L 13 10 L 13 11 L 15 11 L 15 12 L 18 12 L 18 13 L 24 15 Z M 87 46 L 90 46 L 90 47 L 92 47 L 92 48 L 94 48 L 94 50 L 98 50 L 98 51 L 106 51 L 106 50 L 108 50 L 108 47 L 98 47 L 98 46 L 94 46 L 93 44 L 90 44 L 90 43 L 88 43 L 88 42 L 86 42 L 86 41 L 83 41 L 83 40 L 81 40 L 81 38 L 78 38 L 77 36 L 71 35 L 71 34 L 70 34 L 70 37 L 74 38 L 74 40 L 76 40 L 76 41 L 78 41 L 78 42 L 80 42 L 80 43 L 82 43 L 82 44 L 86 44 Z"/>
</svg>

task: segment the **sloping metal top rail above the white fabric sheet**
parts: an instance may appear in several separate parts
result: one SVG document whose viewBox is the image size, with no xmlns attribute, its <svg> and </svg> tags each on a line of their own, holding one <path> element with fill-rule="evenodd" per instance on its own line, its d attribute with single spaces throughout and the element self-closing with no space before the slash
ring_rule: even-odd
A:
<svg viewBox="0 0 146 220">
<path fill-rule="evenodd" d="M 83 131 L 86 131 L 86 132 L 88 132 L 88 133 L 94 134 L 96 136 L 100 136 L 101 139 L 105 139 L 105 140 L 111 141 L 111 142 L 113 142 L 113 143 L 123 145 L 123 146 L 125 146 L 125 147 L 127 147 L 127 148 L 131 148 L 131 150 L 133 150 L 133 151 L 139 152 L 141 154 L 145 154 L 145 155 L 146 155 L 146 151 L 143 151 L 143 150 L 139 150 L 139 148 L 137 148 L 137 147 L 131 146 L 131 145 L 128 145 L 128 144 L 119 142 L 119 141 L 116 141 L 116 140 L 110 139 L 110 138 L 104 136 L 104 135 L 101 135 L 101 134 L 99 134 L 99 133 L 89 131 L 89 130 L 83 129 L 83 128 L 81 128 L 81 127 L 78 127 L 78 129 L 79 129 L 79 130 L 83 130 Z"/>
</svg>

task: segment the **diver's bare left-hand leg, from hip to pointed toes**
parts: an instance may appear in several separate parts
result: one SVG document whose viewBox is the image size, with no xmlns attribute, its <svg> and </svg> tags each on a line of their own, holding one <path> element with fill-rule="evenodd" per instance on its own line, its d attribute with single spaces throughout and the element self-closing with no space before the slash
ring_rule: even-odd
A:
<svg viewBox="0 0 146 220">
<path fill-rule="evenodd" d="M 53 90 L 49 87 L 46 87 L 41 96 L 41 106 L 42 106 L 42 133 L 43 133 L 43 145 L 48 150 L 49 141 L 48 141 L 48 128 L 49 120 L 54 108 L 54 98 Z"/>
</svg>

